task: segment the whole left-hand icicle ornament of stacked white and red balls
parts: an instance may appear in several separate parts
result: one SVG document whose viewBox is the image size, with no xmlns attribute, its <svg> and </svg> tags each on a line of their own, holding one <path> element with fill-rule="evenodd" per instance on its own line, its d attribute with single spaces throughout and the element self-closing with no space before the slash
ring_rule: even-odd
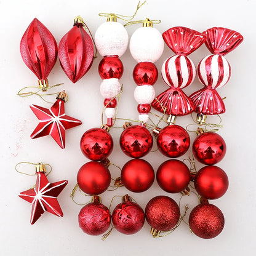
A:
<svg viewBox="0 0 256 256">
<path fill-rule="evenodd" d="M 122 76 L 124 67 L 121 57 L 126 52 L 128 46 L 128 34 L 121 23 L 116 22 L 116 16 L 109 15 L 107 22 L 100 25 L 95 33 L 95 45 L 102 61 L 98 65 L 98 73 L 103 79 L 100 85 L 100 93 L 105 98 L 104 106 L 108 126 L 113 126 L 113 117 L 116 113 L 116 99 L 121 92 L 119 79 Z"/>
</svg>

